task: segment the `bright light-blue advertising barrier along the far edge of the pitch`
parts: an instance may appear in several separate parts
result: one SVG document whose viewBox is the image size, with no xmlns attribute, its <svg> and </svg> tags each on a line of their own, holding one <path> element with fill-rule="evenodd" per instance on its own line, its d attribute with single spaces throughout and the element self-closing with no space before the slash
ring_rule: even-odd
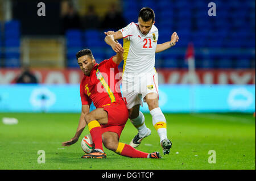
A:
<svg viewBox="0 0 256 181">
<path fill-rule="evenodd" d="M 81 112 L 79 85 L 0 85 L 0 96 L 0 112 Z M 164 113 L 253 113 L 255 85 L 159 85 L 159 107 Z M 141 111 L 149 113 L 146 103 Z"/>
</svg>

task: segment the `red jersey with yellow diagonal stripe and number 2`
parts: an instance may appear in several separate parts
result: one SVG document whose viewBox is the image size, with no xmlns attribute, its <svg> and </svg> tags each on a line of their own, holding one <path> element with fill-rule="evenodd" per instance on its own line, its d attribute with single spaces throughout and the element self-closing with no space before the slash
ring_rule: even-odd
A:
<svg viewBox="0 0 256 181">
<path fill-rule="evenodd" d="M 92 102 L 96 108 L 122 99 L 120 91 L 121 73 L 113 57 L 95 64 L 89 76 L 84 75 L 80 83 L 82 105 Z"/>
</svg>

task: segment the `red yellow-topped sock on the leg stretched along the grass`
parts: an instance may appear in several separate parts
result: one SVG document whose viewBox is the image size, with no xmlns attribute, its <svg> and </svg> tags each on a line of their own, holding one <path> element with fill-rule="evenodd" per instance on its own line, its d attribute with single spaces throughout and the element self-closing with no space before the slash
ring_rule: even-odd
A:
<svg viewBox="0 0 256 181">
<path fill-rule="evenodd" d="M 130 145 L 123 144 L 122 142 L 119 142 L 117 150 L 115 150 L 115 153 L 125 156 L 125 157 L 131 157 L 131 158 L 147 158 L 148 153 L 144 153 L 142 151 L 139 151 Z"/>
</svg>

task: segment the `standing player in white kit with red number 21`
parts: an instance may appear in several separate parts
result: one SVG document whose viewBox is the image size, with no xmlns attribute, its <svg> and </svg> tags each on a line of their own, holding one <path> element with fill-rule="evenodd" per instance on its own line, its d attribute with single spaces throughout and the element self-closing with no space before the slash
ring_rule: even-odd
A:
<svg viewBox="0 0 256 181">
<path fill-rule="evenodd" d="M 122 93 L 127 102 L 131 123 L 138 129 L 138 134 L 130 145 L 136 148 L 143 138 L 151 134 L 151 130 L 144 124 L 143 113 L 139 111 L 143 99 L 152 115 L 152 123 L 159 134 L 163 153 L 169 154 L 172 142 L 167 138 L 166 118 L 158 105 L 155 53 L 174 46 L 179 37 L 174 32 L 170 41 L 157 44 L 158 28 L 154 24 L 154 11 L 143 7 L 139 12 L 138 23 L 130 23 L 117 32 L 105 32 L 105 41 L 115 52 L 123 51 Z M 115 42 L 118 39 L 123 39 L 123 47 Z"/>
</svg>

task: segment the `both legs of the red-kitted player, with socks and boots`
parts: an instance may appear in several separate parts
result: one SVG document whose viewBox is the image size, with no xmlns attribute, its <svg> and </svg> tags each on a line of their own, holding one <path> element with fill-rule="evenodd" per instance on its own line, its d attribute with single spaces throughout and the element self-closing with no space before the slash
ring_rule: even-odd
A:
<svg viewBox="0 0 256 181">
<path fill-rule="evenodd" d="M 96 120 L 95 115 L 97 115 L 98 121 Z M 158 152 L 154 152 L 151 154 L 144 153 L 142 151 L 134 149 L 130 145 L 119 142 L 118 133 L 108 131 L 101 134 L 102 129 L 101 129 L 100 123 L 106 124 L 106 120 L 108 120 L 108 113 L 106 113 L 106 111 L 104 111 L 103 108 L 96 109 L 85 116 L 85 121 L 88 124 L 89 132 L 94 142 L 94 150 L 92 151 L 92 153 L 83 155 L 82 158 L 106 158 L 106 154 L 104 153 L 102 142 L 107 149 L 112 150 L 115 153 L 125 157 L 161 158 Z M 103 141 L 102 141 L 102 137 L 103 137 Z"/>
</svg>

